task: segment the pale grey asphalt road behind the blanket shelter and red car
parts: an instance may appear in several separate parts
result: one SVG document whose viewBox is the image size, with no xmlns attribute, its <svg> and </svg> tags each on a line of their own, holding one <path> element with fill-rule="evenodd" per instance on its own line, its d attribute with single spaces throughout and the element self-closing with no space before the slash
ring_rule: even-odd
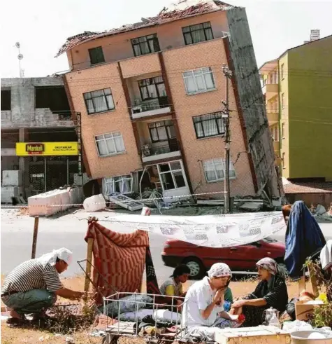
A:
<svg viewBox="0 0 332 344">
<path fill-rule="evenodd" d="M 52 251 L 59 247 L 67 247 L 73 252 L 73 261 L 85 259 L 87 245 L 84 241 L 87 231 L 87 217 L 85 212 L 66 214 L 57 219 L 39 219 L 38 242 L 36 256 Z M 126 232 L 124 226 L 119 223 L 101 221 L 108 214 L 106 212 L 94 214 L 99 222 L 113 231 Z M 114 216 L 114 213 L 111 214 Z M 326 240 L 332 239 L 332 222 L 319 223 Z M 7 274 L 22 261 L 31 258 L 32 235 L 34 219 L 29 216 L 17 216 L 17 210 L 1 209 L 1 274 Z M 131 231 L 131 230 L 127 230 Z M 284 231 L 274 236 L 276 240 L 284 241 Z M 150 249 L 154 268 L 158 280 L 165 280 L 171 275 L 172 268 L 167 268 L 161 260 L 161 251 L 167 240 L 162 235 L 150 233 Z M 73 263 L 64 276 L 82 273 L 78 263 Z"/>
</svg>

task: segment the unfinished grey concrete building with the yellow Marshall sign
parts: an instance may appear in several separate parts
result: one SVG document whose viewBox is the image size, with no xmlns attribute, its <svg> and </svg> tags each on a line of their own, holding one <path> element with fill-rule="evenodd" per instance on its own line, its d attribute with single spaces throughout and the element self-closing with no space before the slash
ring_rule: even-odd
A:
<svg viewBox="0 0 332 344">
<path fill-rule="evenodd" d="M 73 184 L 78 173 L 75 128 L 62 77 L 3 78 L 1 186 L 3 171 L 20 171 L 13 174 L 20 175 L 15 186 L 24 197 Z"/>
</svg>

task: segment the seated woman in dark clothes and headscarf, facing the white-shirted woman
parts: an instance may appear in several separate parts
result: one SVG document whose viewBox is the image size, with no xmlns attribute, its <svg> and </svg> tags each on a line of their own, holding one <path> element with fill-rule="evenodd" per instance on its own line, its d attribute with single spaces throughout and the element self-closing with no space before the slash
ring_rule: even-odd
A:
<svg viewBox="0 0 332 344">
<path fill-rule="evenodd" d="M 243 326 L 263 324 L 267 308 L 273 307 L 281 314 L 288 303 L 287 285 L 279 273 L 277 262 L 272 258 L 263 258 L 256 266 L 261 282 L 252 294 L 235 301 L 231 306 L 231 314 L 245 315 Z"/>
</svg>

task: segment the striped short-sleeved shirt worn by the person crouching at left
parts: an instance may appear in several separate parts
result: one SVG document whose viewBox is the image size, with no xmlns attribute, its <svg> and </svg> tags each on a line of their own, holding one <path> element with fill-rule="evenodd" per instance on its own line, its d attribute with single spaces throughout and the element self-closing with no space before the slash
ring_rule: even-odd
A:
<svg viewBox="0 0 332 344">
<path fill-rule="evenodd" d="M 43 263 L 38 259 L 24 261 L 5 278 L 1 287 L 1 295 L 10 291 L 29 291 L 32 289 L 62 289 L 62 283 L 55 266 Z"/>
</svg>

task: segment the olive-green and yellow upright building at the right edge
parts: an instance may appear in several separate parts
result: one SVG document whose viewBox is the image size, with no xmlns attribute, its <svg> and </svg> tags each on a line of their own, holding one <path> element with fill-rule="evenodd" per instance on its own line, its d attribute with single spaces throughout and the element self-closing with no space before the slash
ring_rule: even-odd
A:
<svg viewBox="0 0 332 344">
<path fill-rule="evenodd" d="M 332 181 L 332 36 L 288 49 L 259 71 L 282 177 Z"/>
</svg>

